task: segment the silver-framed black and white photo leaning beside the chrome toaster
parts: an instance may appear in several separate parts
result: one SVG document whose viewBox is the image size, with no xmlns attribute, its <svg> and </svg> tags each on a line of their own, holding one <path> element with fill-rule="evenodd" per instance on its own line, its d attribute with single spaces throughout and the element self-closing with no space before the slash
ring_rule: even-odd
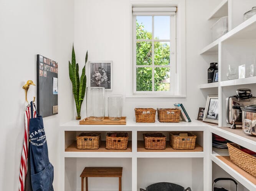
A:
<svg viewBox="0 0 256 191">
<path fill-rule="evenodd" d="M 203 121 L 218 124 L 218 105 L 218 95 L 207 95 L 205 115 L 203 116 Z"/>
</svg>

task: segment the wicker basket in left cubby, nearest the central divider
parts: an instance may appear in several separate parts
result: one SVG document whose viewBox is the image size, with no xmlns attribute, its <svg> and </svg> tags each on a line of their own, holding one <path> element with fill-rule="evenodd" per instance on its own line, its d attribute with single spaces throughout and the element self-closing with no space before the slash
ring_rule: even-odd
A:
<svg viewBox="0 0 256 191">
<path fill-rule="evenodd" d="M 106 149 L 126 150 L 128 146 L 128 139 L 128 133 L 117 133 L 116 137 L 111 137 L 111 133 L 107 133 Z"/>
</svg>

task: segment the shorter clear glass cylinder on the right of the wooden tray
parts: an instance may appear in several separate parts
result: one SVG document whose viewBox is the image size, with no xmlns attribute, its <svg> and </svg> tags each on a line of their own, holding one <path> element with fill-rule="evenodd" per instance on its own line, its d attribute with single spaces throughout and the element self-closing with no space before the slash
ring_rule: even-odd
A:
<svg viewBox="0 0 256 191">
<path fill-rule="evenodd" d="M 107 98 L 107 113 L 110 120 L 112 121 L 121 120 L 122 109 L 123 109 L 122 95 L 110 95 Z"/>
</svg>

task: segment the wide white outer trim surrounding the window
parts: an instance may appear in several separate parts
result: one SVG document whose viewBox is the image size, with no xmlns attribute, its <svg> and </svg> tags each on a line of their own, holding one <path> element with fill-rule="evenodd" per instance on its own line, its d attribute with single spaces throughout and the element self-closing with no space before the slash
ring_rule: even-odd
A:
<svg viewBox="0 0 256 191">
<path fill-rule="evenodd" d="M 147 98 L 147 97 L 186 97 L 186 13 L 185 0 L 160 0 L 157 4 L 154 0 L 130 0 L 130 53 L 127 53 L 127 60 L 130 64 L 125 66 L 126 70 L 126 97 L 127 98 Z M 162 94 L 162 92 L 155 92 L 155 94 L 134 94 L 134 36 L 133 36 L 133 16 L 132 8 L 134 7 L 177 7 L 177 28 L 176 28 L 176 68 L 175 68 L 175 88 L 174 94 Z M 129 40 L 127 41 L 129 42 Z"/>
</svg>

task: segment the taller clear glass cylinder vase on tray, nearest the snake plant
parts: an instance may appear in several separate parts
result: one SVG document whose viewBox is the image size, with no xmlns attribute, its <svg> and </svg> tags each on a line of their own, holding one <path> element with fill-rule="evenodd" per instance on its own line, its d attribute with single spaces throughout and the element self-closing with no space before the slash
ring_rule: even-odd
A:
<svg viewBox="0 0 256 191">
<path fill-rule="evenodd" d="M 86 113 L 89 121 L 103 121 L 105 117 L 105 88 L 87 87 Z"/>
</svg>

